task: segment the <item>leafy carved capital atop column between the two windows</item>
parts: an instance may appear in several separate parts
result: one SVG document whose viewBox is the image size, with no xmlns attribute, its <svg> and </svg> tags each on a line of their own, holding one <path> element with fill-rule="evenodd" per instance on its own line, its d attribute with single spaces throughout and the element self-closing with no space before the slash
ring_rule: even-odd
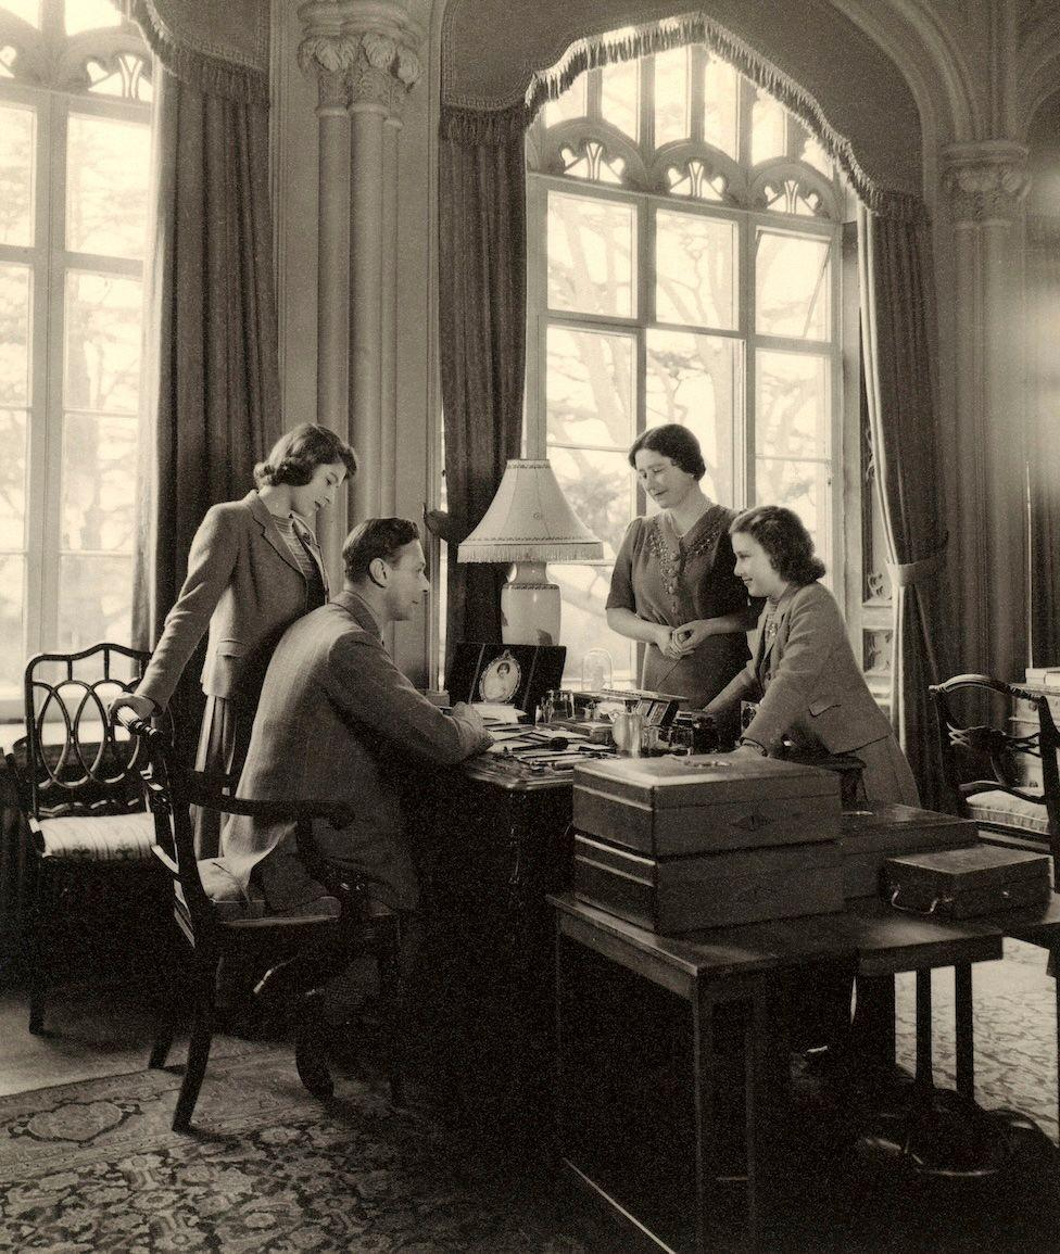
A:
<svg viewBox="0 0 1060 1254">
<path fill-rule="evenodd" d="M 299 65 L 340 74 L 351 110 L 400 118 L 404 99 L 423 73 L 423 28 L 405 5 L 400 0 L 306 0 L 299 16 L 305 31 Z"/>
</svg>

